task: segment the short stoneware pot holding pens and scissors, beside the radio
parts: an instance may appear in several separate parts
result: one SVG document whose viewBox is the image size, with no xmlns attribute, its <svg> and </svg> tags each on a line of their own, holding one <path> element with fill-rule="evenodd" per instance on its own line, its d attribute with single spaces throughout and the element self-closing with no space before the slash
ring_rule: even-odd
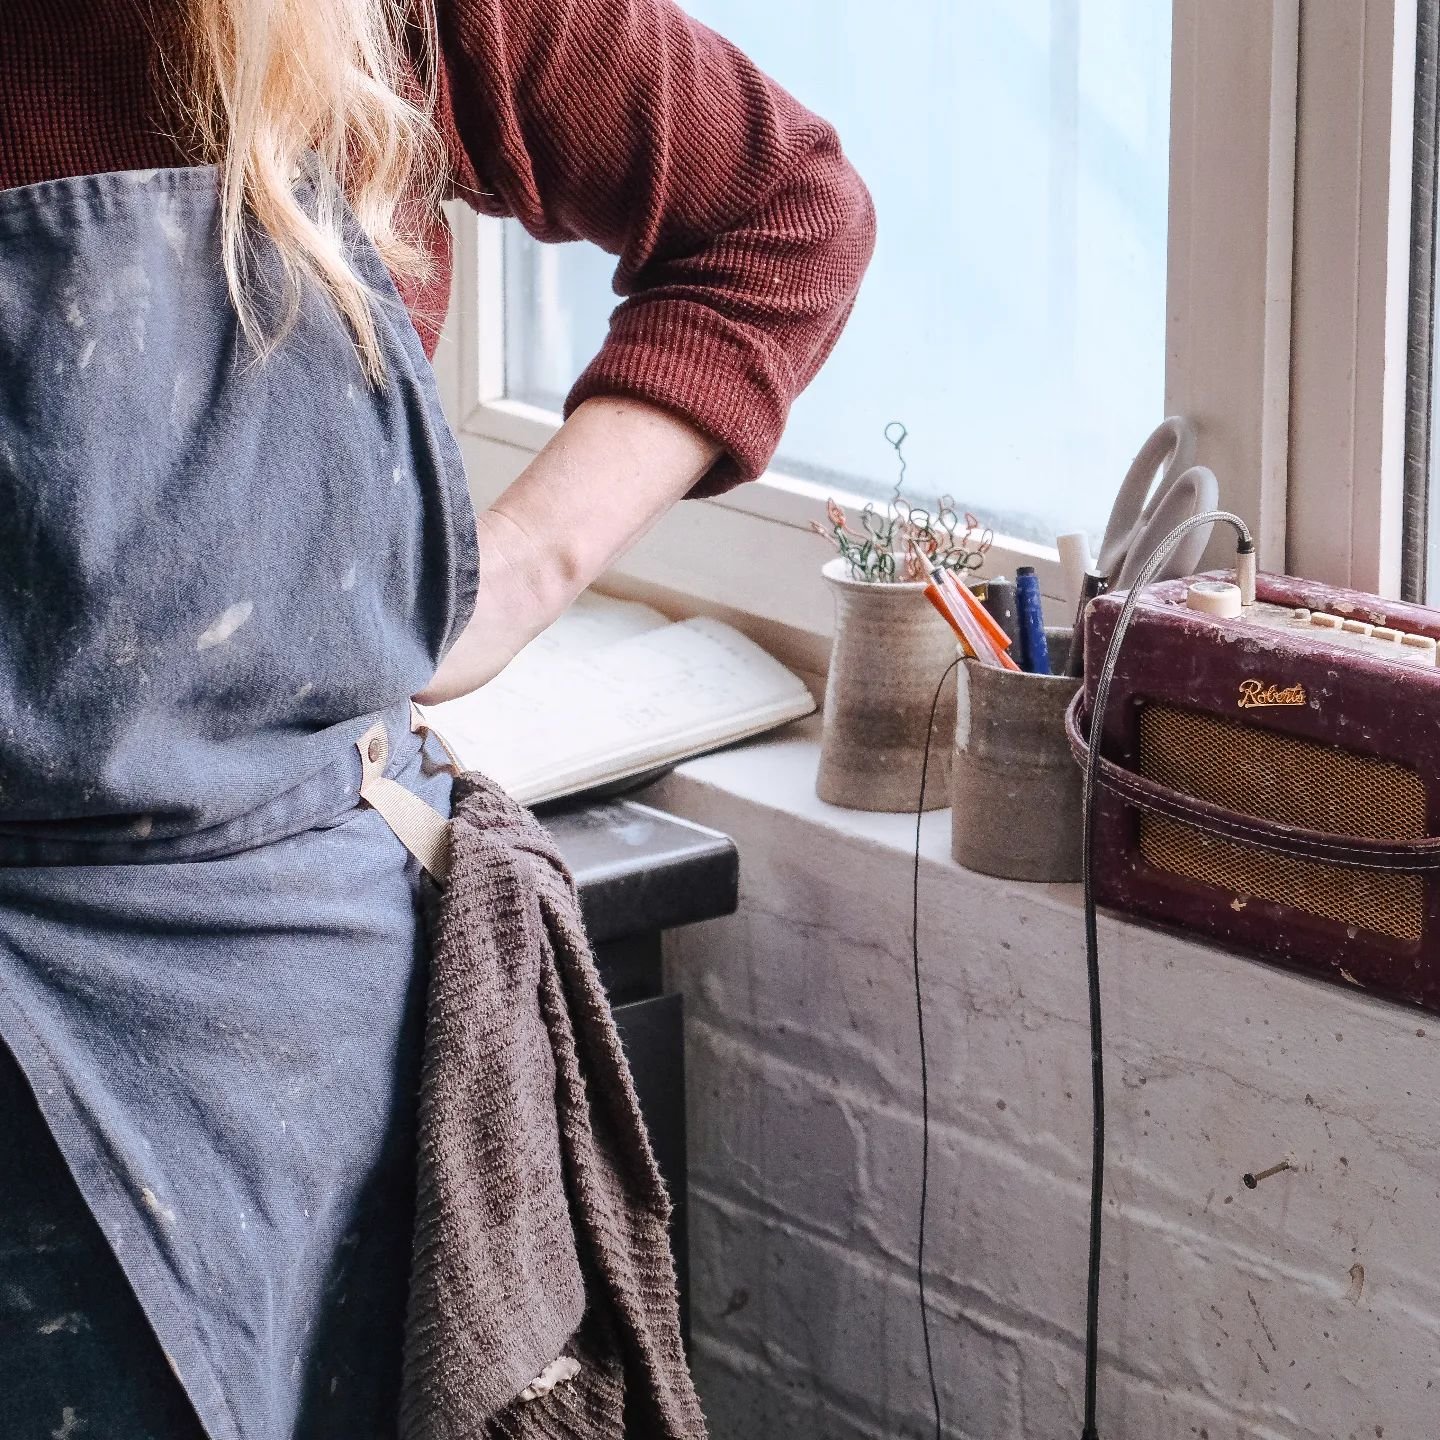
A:
<svg viewBox="0 0 1440 1440">
<path fill-rule="evenodd" d="M 1047 629 L 1064 670 L 1070 632 Z M 955 707 L 950 854 L 1007 880 L 1080 878 L 1080 770 L 1066 740 L 1066 675 L 991 670 L 966 660 Z"/>
</svg>

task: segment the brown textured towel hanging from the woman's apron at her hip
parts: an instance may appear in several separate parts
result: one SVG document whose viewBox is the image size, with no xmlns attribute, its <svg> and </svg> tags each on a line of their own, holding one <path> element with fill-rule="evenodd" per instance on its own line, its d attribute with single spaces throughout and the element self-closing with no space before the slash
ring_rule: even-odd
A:
<svg viewBox="0 0 1440 1440">
<path fill-rule="evenodd" d="M 432 940 L 402 1436 L 703 1440 L 670 1200 L 575 884 L 478 775 Z M 562 1354 L 579 1374 L 520 1400 Z"/>
</svg>

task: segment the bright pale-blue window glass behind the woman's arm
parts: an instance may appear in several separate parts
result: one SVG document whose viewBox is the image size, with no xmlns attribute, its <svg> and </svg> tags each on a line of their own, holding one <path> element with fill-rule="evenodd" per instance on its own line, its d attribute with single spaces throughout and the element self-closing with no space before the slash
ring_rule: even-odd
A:
<svg viewBox="0 0 1440 1440">
<path fill-rule="evenodd" d="M 880 242 L 775 469 L 950 494 L 1050 543 L 1104 527 L 1164 415 L 1169 13 L 1156 0 L 688 0 L 831 120 Z M 505 239 L 505 389 L 559 409 L 612 261 Z"/>
</svg>

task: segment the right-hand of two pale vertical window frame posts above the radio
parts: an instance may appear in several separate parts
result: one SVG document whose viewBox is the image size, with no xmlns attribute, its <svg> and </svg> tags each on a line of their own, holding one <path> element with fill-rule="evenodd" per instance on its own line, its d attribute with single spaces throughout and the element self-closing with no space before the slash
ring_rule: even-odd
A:
<svg viewBox="0 0 1440 1440">
<path fill-rule="evenodd" d="M 1417 4 L 1302 23 L 1289 569 L 1398 596 Z"/>
</svg>

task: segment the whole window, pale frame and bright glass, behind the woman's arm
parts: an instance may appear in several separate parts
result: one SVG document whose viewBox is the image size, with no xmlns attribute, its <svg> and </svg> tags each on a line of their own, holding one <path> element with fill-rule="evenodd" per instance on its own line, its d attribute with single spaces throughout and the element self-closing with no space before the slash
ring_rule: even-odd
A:
<svg viewBox="0 0 1440 1440">
<path fill-rule="evenodd" d="M 773 474 L 678 507 L 618 577 L 824 639 L 808 524 L 832 490 L 888 491 L 900 419 L 917 498 L 992 520 L 998 567 L 1057 595 L 1054 534 L 1096 533 L 1185 413 L 1264 567 L 1395 593 L 1416 3 L 687 0 L 835 121 L 880 251 Z M 605 255 L 456 233 L 449 373 L 485 501 L 615 297 Z"/>
</svg>

